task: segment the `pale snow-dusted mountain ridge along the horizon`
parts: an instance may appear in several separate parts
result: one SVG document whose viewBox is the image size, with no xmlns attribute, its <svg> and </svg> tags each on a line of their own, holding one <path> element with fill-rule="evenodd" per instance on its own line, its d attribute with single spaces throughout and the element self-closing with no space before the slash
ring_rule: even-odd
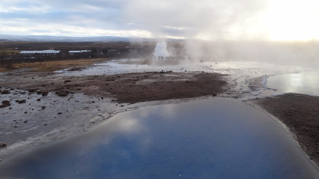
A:
<svg viewBox="0 0 319 179">
<path fill-rule="evenodd" d="M 180 39 L 169 39 L 180 41 Z M 156 38 L 145 37 L 68 37 L 68 36 L 46 36 L 46 35 L 0 35 L 0 41 L 39 41 L 39 42 L 113 42 L 113 41 L 156 41 Z"/>
</svg>

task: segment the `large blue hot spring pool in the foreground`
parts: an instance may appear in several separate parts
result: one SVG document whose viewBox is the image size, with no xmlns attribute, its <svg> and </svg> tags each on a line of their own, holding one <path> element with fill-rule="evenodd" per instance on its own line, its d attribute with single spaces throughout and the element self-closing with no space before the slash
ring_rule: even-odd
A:
<svg viewBox="0 0 319 179">
<path fill-rule="evenodd" d="M 2 176 L 319 178 L 281 125 L 228 98 L 123 112 L 94 130 L 26 151 L 0 163 Z"/>
</svg>

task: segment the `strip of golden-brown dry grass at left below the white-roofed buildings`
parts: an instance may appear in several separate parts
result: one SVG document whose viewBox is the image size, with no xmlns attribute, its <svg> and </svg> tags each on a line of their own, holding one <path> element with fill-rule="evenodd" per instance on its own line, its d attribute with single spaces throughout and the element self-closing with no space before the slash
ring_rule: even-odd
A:
<svg viewBox="0 0 319 179">
<path fill-rule="evenodd" d="M 63 60 L 63 61 L 37 61 L 12 64 L 13 69 L 33 68 L 31 71 L 44 72 L 56 71 L 70 67 L 92 65 L 105 59 L 80 59 L 80 60 Z M 9 71 L 10 69 L 0 67 L 0 72 Z"/>
</svg>

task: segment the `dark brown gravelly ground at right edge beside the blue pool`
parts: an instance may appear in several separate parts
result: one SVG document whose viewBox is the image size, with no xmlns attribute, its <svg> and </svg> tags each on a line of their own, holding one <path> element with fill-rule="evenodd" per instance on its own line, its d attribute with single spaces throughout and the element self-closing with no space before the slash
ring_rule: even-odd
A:
<svg viewBox="0 0 319 179">
<path fill-rule="evenodd" d="M 279 94 L 243 101 L 269 113 L 291 132 L 296 145 L 319 163 L 319 97 L 296 93 Z"/>
</svg>

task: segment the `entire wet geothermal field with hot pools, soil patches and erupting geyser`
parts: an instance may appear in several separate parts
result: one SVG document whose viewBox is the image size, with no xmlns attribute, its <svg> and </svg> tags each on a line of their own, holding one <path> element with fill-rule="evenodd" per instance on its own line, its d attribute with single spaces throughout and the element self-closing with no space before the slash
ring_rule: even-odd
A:
<svg viewBox="0 0 319 179">
<path fill-rule="evenodd" d="M 11 69 L 2 68 L 0 173 L 319 176 L 316 69 L 253 56 L 185 55 L 189 44 L 181 42 L 148 44 L 153 51 L 146 55 L 17 57 Z"/>
</svg>

